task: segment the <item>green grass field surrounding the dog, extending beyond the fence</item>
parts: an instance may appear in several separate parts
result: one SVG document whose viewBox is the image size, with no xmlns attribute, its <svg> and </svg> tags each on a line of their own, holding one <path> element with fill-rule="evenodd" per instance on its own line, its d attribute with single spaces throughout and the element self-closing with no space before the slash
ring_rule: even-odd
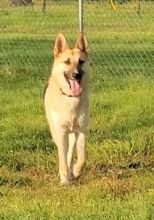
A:
<svg viewBox="0 0 154 220">
<path fill-rule="evenodd" d="M 1 2 L 1 1 L 0 1 Z M 3 2 L 4 4 L 4 2 Z M 91 66 L 87 165 L 60 187 L 43 89 L 77 4 L 0 11 L 0 220 L 154 219 L 153 3 L 85 5 Z M 3 6 L 3 7 L 2 7 Z M 94 13 L 95 12 L 95 13 Z M 71 19 L 69 19 L 71 17 Z"/>
</svg>

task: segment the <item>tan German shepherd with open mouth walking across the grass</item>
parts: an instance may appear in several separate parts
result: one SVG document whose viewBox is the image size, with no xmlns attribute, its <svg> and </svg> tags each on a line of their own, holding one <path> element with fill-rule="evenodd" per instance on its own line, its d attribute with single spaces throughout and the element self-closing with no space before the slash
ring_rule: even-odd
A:
<svg viewBox="0 0 154 220">
<path fill-rule="evenodd" d="M 88 125 L 88 54 L 87 40 L 80 34 L 70 49 L 58 34 L 54 64 L 45 91 L 44 104 L 50 131 L 58 147 L 59 174 L 63 185 L 78 178 L 85 164 L 85 132 Z M 73 148 L 77 161 L 72 165 Z"/>
</svg>

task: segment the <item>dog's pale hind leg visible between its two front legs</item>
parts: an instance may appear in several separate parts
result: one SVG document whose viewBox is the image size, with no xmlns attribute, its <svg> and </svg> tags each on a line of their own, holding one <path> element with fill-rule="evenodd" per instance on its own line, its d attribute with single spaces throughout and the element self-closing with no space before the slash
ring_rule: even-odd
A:
<svg viewBox="0 0 154 220">
<path fill-rule="evenodd" d="M 71 133 L 69 134 L 69 148 L 67 153 L 67 165 L 68 165 L 70 179 L 73 178 L 72 156 L 73 156 L 73 150 L 75 144 L 76 144 L 76 135 L 75 133 Z"/>
</svg>

